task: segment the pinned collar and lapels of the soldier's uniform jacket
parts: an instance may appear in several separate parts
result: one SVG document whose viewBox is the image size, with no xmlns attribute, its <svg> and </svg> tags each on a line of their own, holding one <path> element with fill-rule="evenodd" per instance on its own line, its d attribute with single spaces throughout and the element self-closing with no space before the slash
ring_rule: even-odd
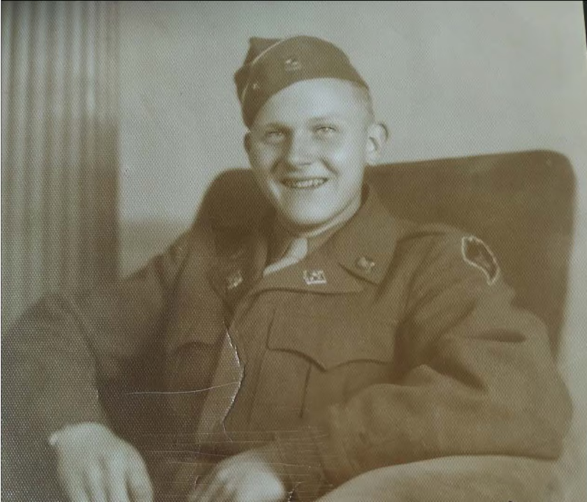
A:
<svg viewBox="0 0 587 502">
<path fill-rule="evenodd" d="M 216 232 L 218 258 L 208 278 L 232 308 L 246 294 L 266 290 L 338 294 L 361 291 L 364 281 L 377 284 L 391 263 L 400 233 L 375 191 L 365 187 L 361 208 L 326 244 L 300 263 L 263 277 L 271 216 L 259 226 Z"/>
</svg>

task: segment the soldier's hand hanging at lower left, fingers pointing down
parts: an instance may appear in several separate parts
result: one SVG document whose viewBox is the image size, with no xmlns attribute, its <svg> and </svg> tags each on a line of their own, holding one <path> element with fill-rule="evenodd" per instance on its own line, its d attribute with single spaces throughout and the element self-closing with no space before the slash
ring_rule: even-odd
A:
<svg viewBox="0 0 587 502">
<path fill-rule="evenodd" d="M 59 483 L 71 502 L 152 502 L 142 457 L 107 427 L 66 427 L 51 442 Z"/>
</svg>

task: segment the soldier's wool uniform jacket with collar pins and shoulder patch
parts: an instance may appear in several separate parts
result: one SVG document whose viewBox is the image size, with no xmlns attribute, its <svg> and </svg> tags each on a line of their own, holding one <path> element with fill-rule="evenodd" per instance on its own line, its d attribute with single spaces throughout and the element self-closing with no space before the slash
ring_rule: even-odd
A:
<svg viewBox="0 0 587 502">
<path fill-rule="evenodd" d="M 65 425 L 111 424 L 108 381 L 124 382 L 123 422 L 129 403 L 162 404 L 167 447 L 146 457 L 182 456 L 185 475 L 260 448 L 300 498 L 419 459 L 558 457 L 571 406 L 545 327 L 483 242 L 394 219 L 369 191 L 263 277 L 264 228 L 196 225 L 129 278 L 29 309 L 3 340 L 15 471 Z"/>
</svg>

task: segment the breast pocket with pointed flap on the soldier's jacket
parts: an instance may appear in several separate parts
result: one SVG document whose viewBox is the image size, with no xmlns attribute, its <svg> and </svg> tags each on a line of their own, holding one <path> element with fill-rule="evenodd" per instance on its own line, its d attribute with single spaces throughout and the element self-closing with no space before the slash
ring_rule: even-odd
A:
<svg viewBox="0 0 587 502">
<path fill-rule="evenodd" d="M 326 406 L 346 401 L 393 372 L 397 323 L 375 309 L 329 302 L 298 302 L 279 309 L 268 348 L 287 351 L 308 364 L 302 413 L 310 417 Z"/>
</svg>

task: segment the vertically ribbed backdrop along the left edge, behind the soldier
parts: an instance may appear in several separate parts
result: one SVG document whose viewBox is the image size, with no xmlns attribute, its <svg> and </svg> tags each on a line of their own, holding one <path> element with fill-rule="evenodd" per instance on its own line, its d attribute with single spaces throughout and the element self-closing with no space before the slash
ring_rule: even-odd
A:
<svg viewBox="0 0 587 502">
<path fill-rule="evenodd" d="M 118 6 L 1 3 L 2 325 L 117 275 Z"/>
</svg>

